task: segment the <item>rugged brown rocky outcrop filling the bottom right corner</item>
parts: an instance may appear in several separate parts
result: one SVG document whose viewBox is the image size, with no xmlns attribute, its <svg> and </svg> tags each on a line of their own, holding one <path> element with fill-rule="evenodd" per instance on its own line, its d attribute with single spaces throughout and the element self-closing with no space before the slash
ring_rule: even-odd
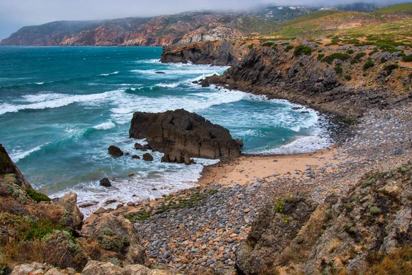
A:
<svg viewBox="0 0 412 275">
<path fill-rule="evenodd" d="M 317 207 L 308 197 L 274 199 L 236 251 L 239 273 L 372 274 L 371 265 L 411 245 L 411 176 L 411 163 L 369 173 Z"/>
</svg>

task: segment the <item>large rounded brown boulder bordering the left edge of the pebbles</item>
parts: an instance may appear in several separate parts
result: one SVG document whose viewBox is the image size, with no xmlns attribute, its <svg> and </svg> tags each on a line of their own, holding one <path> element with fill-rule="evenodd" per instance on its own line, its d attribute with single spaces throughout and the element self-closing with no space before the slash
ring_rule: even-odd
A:
<svg viewBox="0 0 412 275">
<path fill-rule="evenodd" d="M 108 214 L 102 217 L 94 227 L 87 227 L 82 230 L 82 234 L 93 239 L 100 239 L 106 246 L 106 250 L 121 251 L 124 254 L 124 262 L 126 264 L 145 264 L 148 262 L 146 258 L 145 248 L 140 245 L 139 235 L 133 227 L 133 223 L 122 215 L 114 216 Z M 122 240 L 122 247 L 118 243 L 111 243 L 114 239 Z M 89 273 L 88 273 L 89 274 Z"/>
</svg>

